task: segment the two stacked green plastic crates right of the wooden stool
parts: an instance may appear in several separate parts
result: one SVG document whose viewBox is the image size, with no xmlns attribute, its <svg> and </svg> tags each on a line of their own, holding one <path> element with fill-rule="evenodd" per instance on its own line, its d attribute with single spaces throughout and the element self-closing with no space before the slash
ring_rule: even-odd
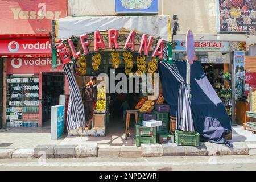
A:
<svg viewBox="0 0 256 182">
<path fill-rule="evenodd" d="M 141 144 L 156 143 L 156 127 L 146 127 L 141 123 L 136 124 L 136 146 Z"/>
</svg>

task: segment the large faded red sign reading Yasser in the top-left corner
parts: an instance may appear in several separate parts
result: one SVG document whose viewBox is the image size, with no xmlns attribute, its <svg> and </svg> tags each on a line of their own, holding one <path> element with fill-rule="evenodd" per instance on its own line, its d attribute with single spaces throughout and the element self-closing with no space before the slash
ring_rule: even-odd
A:
<svg viewBox="0 0 256 182">
<path fill-rule="evenodd" d="M 67 16 L 67 0 L 0 0 L 0 34 L 49 34 L 51 20 Z"/>
</svg>

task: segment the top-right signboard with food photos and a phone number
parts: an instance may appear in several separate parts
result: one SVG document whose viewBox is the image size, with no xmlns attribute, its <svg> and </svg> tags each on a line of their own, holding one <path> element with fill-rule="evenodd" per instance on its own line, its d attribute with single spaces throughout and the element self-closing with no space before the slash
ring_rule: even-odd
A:
<svg viewBox="0 0 256 182">
<path fill-rule="evenodd" d="M 256 0 L 218 0 L 219 32 L 255 32 Z"/>
</svg>

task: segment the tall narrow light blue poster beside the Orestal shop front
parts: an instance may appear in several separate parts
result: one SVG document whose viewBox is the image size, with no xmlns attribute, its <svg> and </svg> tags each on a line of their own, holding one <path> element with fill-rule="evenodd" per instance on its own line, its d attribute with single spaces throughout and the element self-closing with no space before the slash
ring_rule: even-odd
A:
<svg viewBox="0 0 256 182">
<path fill-rule="evenodd" d="M 234 52 L 235 98 L 245 93 L 245 52 Z"/>
</svg>

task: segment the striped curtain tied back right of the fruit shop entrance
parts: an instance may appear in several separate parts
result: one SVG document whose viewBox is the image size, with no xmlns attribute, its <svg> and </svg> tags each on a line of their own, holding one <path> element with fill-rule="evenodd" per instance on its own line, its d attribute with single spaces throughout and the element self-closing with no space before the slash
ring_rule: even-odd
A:
<svg viewBox="0 0 256 182">
<path fill-rule="evenodd" d="M 183 77 L 180 75 L 176 64 L 169 64 L 164 61 L 160 61 L 160 64 L 164 65 L 172 75 L 180 82 L 178 105 L 177 105 L 177 130 L 183 131 L 195 131 L 193 125 L 193 118 L 191 113 L 191 101 L 189 98 L 188 88 Z"/>
</svg>

